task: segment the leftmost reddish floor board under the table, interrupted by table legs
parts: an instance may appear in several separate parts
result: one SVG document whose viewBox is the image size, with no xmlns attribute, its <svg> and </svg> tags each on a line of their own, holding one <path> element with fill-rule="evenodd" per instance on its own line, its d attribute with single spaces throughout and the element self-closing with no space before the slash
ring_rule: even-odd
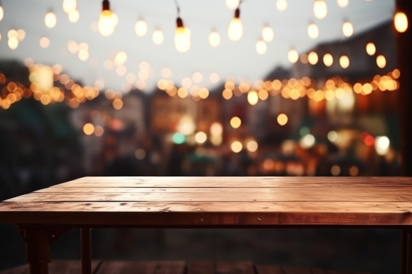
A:
<svg viewBox="0 0 412 274">
<path fill-rule="evenodd" d="M 99 265 L 99 260 L 92 261 L 92 273 Z M 53 260 L 49 264 L 51 274 L 79 274 L 81 273 L 81 262 L 79 260 Z M 29 274 L 29 265 L 0 271 L 0 274 Z"/>
</svg>

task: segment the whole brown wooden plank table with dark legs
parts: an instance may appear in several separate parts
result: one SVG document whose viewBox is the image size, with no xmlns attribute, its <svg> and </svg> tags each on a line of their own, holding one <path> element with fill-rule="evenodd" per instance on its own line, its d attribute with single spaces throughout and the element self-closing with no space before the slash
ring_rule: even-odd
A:
<svg viewBox="0 0 412 274">
<path fill-rule="evenodd" d="M 84 177 L 0 203 L 16 224 L 30 273 L 48 273 L 49 246 L 81 229 L 91 273 L 90 228 L 299 227 L 401 229 L 401 268 L 412 274 L 412 178 Z"/>
</svg>

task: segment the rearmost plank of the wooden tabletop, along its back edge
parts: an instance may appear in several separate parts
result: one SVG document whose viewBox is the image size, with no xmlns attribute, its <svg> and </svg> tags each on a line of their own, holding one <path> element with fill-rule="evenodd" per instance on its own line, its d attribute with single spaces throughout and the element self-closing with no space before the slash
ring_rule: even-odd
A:
<svg viewBox="0 0 412 274">
<path fill-rule="evenodd" d="M 54 187 L 138 186 L 138 187 L 273 187 L 275 184 L 363 183 L 412 185 L 410 177 L 83 177 Z"/>
</svg>

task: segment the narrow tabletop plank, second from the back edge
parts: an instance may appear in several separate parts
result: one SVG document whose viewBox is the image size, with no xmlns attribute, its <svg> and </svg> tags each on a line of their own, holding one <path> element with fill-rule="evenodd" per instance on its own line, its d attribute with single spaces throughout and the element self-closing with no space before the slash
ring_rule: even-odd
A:
<svg viewBox="0 0 412 274">
<path fill-rule="evenodd" d="M 336 185 L 336 184 L 335 184 Z M 34 193 L 370 193 L 371 187 L 357 187 L 353 189 L 351 186 L 319 186 L 319 187 L 283 187 L 281 189 L 277 187 L 48 187 L 34 191 Z M 412 192 L 411 186 L 404 187 L 373 187 L 374 193 L 385 194 L 400 194 L 405 191 Z"/>
</svg>

